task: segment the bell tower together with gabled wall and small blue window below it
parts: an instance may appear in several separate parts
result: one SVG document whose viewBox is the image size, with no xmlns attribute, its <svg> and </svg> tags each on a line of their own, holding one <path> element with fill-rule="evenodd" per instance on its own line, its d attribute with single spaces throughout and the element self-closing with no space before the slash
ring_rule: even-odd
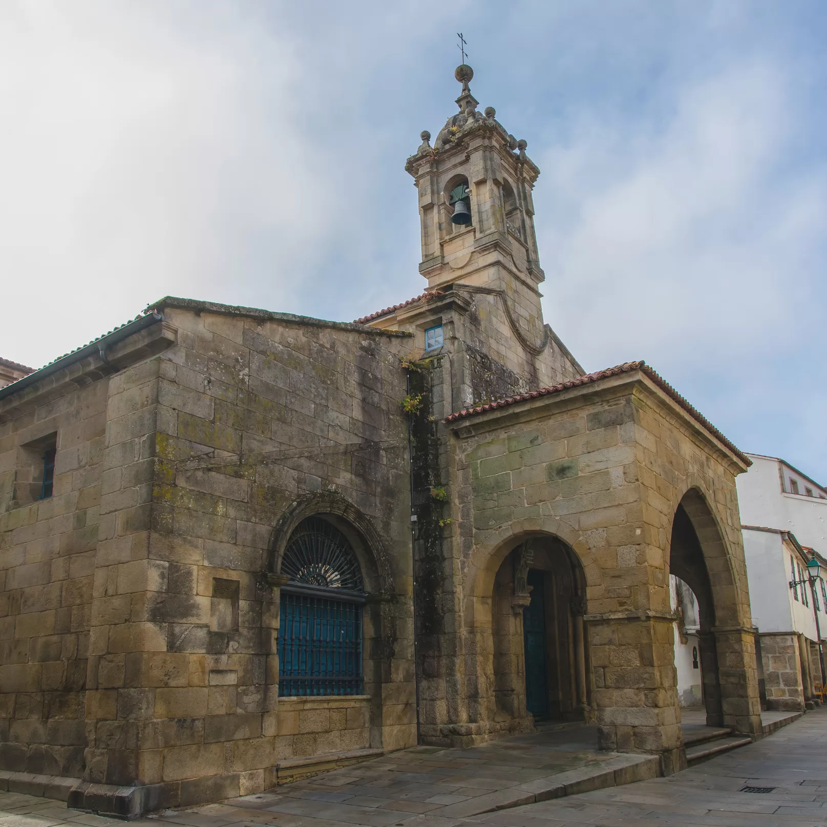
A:
<svg viewBox="0 0 827 827">
<path fill-rule="evenodd" d="M 357 319 L 412 333 L 418 356 L 450 356 L 442 416 L 586 372 L 543 321 L 531 198 L 540 170 L 493 107 L 477 112 L 471 66 L 454 74 L 459 112 L 433 146 L 423 132 L 405 163 L 418 190 L 428 288 Z"/>
</svg>

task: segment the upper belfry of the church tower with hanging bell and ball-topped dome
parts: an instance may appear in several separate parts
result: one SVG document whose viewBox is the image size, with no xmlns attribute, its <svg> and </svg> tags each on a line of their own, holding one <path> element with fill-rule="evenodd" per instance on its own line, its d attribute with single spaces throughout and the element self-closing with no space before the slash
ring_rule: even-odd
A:
<svg viewBox="0 0 827 827">
<path fill-rule="evenodd" d="M 458 66 L 454 75 L 462 84 L 459 112 L 447 119 L 433 146 L 423 131 L 422 144 L 405 165 L 419 195 L 419 272 L 429 290 L 455 282 L 502 290 L 521 321 L 539 332 L 538 284 L 545 275 L 532 190 L 540 170 L 526 155 L 526 141 L 509 135 L 493 107 L 477 111 L 471 66 Z"/>
</svg>

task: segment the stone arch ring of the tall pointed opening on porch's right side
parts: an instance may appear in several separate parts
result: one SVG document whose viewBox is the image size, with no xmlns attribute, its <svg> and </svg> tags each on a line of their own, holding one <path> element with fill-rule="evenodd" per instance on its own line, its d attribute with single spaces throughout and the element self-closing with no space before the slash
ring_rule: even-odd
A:
<svg viewBox="0 0 827 827">
<path fill-rule="evenodd" d="M 671 504 L 672 516 L 670 517 L 669 524 L 667 526 L 667 570 L 671 570 L 672 564 L 672 526 L 675 522 L 677 507 L 681 504 L 684 505 L 686 514 L 689 516 L 689 519 L 695 528 L 701 551 L 705 557 L 707 571 L 709 571 L 710 580 L 712 580 L 711 586 L 713 600 L 715 600 L 715 609 L 717 614 L 718 609 L 724 609 L 724 607 L 729 604 L 729 601 L 722 600 L 722 595 L 719 594 L 722 585 L 729 586 L 736 593 L 743 591 L 743 584 L 735 571 L 732 547 L 729 543 L 729 538 L 727 538 L 726 532 L 724 531 L 725 522 L 721 519 L 721 515 L 718 513 L 715 495 L 707 488 L 707 485 L 705 485 L 705 482 L 700 474 L 692 473 L 686 476 L 686 479 L 683 481 L 683 485 L 676 490 L 675 499 L 672 500 Z M 711 533 L 708 531 L 704 532 L 703 526 L 699 525 L 700 521 L 705 516 L 708 516 L 712 520 L 713 525 Z M 715 574 L 719 574 L 720 571 L 719 567 L 715 566 L 716 562 L 724 563 L 724 570 L 726 571 L 727 579 L 729 581 L 728 583 L 721 584 L 719 578 L 715 577 Z M 733 596 L 736 597 L 734 603 L 736 606 L 736 611 L 739 611 L 738 607 L 741 605 L 741 600 L 737 599 L 739 595 Z M 722 621 L 727 625 L 733 623 L 743 624 L 742 618 L 738 617 L 736 619 L 731 616 L 726 617 L 726 612 L 723 614 L 724 617 L 719 617 L 717 621 L 719 624 L 721 624 Z M 749 624 L 747 623 L 745 625 Z"/>
</svg>

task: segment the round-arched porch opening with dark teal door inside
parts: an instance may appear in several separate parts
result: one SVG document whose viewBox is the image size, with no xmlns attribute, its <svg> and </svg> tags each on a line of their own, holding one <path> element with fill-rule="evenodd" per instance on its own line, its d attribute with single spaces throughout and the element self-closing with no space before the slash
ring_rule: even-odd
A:
<svg viewBox="0 0 827 827">
<path fill-rule="evenodd" d="M 494 579 L 495 719 L 519 722 L 582 718 L 588 705 L 581 564 L 561 539 L 523 540 Z"/>
</svg>

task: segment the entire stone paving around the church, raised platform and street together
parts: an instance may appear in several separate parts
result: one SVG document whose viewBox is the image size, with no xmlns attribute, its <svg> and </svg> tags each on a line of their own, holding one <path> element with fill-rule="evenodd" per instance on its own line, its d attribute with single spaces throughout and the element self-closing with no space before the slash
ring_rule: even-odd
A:
<svg viewBox="0 0 827 827">
<path fill-rule="evenodd" d="M 703 724 L 698 719 L 687 721 L 690 725 Z M 657 758 L 600 753 L 594 728 L 566 726 L 471 749 L 412 748 L 274 791 L 189 810 L 165 810 L 132 824 L 827 825 L 827 709 L 810 712 L 771 738 L 675 776 L 655 778 L 656 770 Z M 638 778 L 651 780 L 629 786 Z M 581 792 L 597 786 L 606 788 Z M 743 786 L 775 789 L 740 792 Z M 69 810 L 60 801 L 0 792 L 0 827 L 119 823 Z"/>
</svg>

